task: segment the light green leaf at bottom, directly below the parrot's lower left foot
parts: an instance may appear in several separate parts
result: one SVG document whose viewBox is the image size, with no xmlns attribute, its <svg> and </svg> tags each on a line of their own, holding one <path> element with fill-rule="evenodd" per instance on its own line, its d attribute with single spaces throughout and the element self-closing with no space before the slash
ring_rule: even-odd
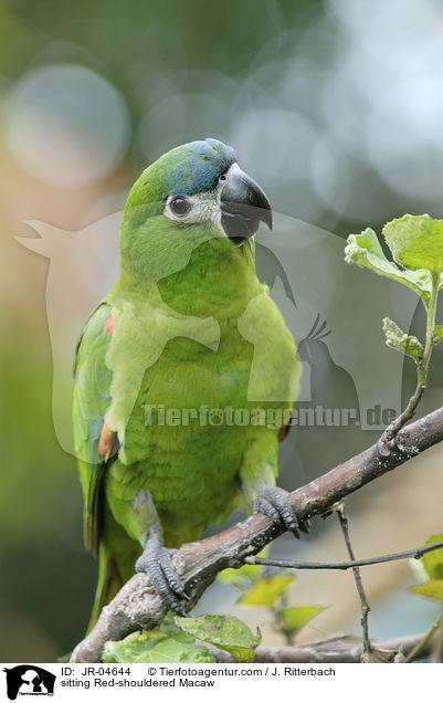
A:
<svg viewBox="0 0 443 703">
<path fill-rule="evenodd" d="M 152 636 L 154 633 L 154 636 Z M 202 644 L 196 644 L 184 632 L 165 636 L 162 632 L 134 632 L 120 642 L 106 642 L 103 657 L 106 663 L 212 663 L 217 660 Z"/>
</svg>

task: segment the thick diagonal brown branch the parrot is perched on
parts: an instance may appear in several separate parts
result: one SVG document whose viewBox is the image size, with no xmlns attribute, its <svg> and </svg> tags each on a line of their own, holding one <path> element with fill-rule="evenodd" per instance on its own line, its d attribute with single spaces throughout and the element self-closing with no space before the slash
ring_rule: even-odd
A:
<svg viewBox="0 0 443 703">
<path fill-rule="evenodd" d="M 384 454 L 386 448 L 377 443 L 291 493 L 291 503 L 302 521 L 325 514 L 350 493 L 442 440 L 443 408 L 440 408 L 404 427 L 388 454 Z M 190 596 L 186 607 L 191 609 L 196 605 L 219 571 L 241 566 L 247 556 L 263 549 L 282 533 L 282 528 L 259 513 L 218 535 L 182 545 L 172 562 Z M 73 651 L 71 661 L 99 661 L 107 640 L 120 640 L 141 628 L 151 629 L 164 617 L 165 606 L 148 577 L 136 574 L 102 610 L 94 629 Z"/>
</svg>

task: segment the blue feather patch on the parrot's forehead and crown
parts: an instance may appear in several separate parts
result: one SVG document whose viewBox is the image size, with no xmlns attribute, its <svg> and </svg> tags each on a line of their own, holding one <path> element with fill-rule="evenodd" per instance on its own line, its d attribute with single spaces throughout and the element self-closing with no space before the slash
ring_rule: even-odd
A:
<svg viewBox="0 0 443 703">
<path fill-rule="evenodd" d="M 191 196 L 215 187 L 219 177 L 235 161 L 234 150 L 218 139 L 190 141 L 161 156 L 165 195 Z"/>
</svg>

